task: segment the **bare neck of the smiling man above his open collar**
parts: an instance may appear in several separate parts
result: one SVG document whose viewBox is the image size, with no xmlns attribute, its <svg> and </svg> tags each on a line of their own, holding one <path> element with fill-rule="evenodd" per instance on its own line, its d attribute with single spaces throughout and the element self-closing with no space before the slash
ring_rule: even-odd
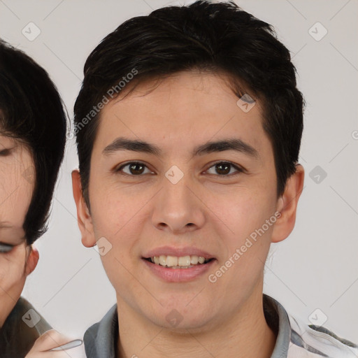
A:
<svg viewBox="0 0 358 358">
<path fill-rule="evenodd" d="M 269 358 L 276 333 L 264 317 L 262 289 L 227 320 L 199 329 L 166 329 L 138 315 L 117 297 L 120 337 L 117 358 Z"/>
</svg>

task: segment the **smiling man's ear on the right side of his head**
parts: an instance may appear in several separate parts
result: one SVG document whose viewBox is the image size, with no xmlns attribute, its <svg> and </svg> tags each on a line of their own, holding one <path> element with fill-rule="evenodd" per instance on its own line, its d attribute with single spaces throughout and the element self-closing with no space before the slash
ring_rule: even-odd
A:
<svg viewBox="0 0 358 358">
<path fill-rule="evenodd" d="M 303 190 L 304 175 L 303 166 L 296 164 L 296 172 L 287 179 L 285 192 L 278 199 L 277 210 L 281 215 L 273 227 L 271 238 L 273 243 L 285 240 L 294 229 L 297 204 Z"/>
</svg>

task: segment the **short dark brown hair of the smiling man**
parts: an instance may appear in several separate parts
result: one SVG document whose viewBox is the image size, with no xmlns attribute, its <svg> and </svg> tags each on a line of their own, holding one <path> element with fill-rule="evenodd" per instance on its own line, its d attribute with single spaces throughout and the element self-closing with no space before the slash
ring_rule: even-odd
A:
<svg viewBox="0 0 358 358">
<path fill-rule="evenodd" d="M 248 93 L 261 101 L 262 125 L 273 146 L 277 194 L 283 193 L 287 178 L 296 171 L 303 131 L 304 100 L 296 88 L 289 50 L 270 24 L 234 2 L 196 1 L 127 20 L 87 58 L 74 113 L 81 183 L 89 208 L 90 159 L 101 114 L 92 110 L 94 106 L 106 94 L 113 98 L 110 89 L 121 87 L 134 71 L 131 91 L 144 80 L 191 70 L 222 73 L 237 96 Z"/>
</svg>

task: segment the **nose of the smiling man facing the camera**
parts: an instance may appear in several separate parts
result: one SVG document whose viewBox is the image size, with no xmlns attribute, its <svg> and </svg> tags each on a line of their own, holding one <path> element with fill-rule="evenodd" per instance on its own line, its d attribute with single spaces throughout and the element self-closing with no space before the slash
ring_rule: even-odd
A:
<svg viewBox="0 0 358 358">
<path fill-rule="evenodd" d="M 185 234 L 203 227 L 204 205 L 194 187 L 186 175 L 176 184 L 164 178 L 153 203 L 152 224 L 171 234 Z"/>
</svg>

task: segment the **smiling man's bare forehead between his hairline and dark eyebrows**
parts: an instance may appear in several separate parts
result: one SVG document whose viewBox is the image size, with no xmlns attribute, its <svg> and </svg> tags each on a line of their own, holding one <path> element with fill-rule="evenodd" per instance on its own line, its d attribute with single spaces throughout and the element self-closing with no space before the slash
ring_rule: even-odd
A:
<svg viewBox="0 0 358 358">
<path fill-rule="evenodd" d="M 269 145 L 260 103 L 248 111 L 238 104 L 227 81 L 215 74 L 190 71 L 159 83 L 146 82 L 104 106 L 94 150 L 117 136 L 150 139 L 164 152 L 228 136 L 245 139 L 254 147 L 263 141 Z"/>
</svg>

